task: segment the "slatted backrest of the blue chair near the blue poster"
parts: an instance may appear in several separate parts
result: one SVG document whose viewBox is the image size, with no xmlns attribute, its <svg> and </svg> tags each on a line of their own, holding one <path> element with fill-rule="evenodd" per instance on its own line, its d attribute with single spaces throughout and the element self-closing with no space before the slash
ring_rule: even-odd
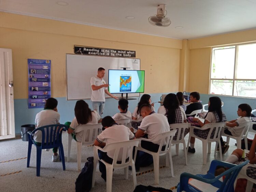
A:
<svg viewBox="0 0 256 192">
<path fill-rule="evenodd" d="M 66 131 L 68 127 L 64 124 L 52 124 L 39 127 L 32 131 L 31 135 L 34 135 L 36 131 L 42 132 L 42 144 L 41 148 L 58 147 L 61 144 L 62 131 Z"/>
</svg>

